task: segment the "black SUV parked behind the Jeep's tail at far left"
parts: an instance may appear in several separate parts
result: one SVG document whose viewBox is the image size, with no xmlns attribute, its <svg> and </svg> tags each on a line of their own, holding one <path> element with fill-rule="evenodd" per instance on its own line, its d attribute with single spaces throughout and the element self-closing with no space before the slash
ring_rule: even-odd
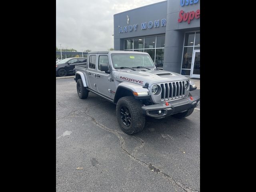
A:
<svg viewBox="0 0 256 192">
<path fill-rule="evenodd" d="M 74 68 L 77 64 L 86 64 L 87 58 L 73 57 L 66 58 L 56 64 L 56 75 L 60 77 L 67 76 L 67 74 L 74 74 Z"/>
</svg>

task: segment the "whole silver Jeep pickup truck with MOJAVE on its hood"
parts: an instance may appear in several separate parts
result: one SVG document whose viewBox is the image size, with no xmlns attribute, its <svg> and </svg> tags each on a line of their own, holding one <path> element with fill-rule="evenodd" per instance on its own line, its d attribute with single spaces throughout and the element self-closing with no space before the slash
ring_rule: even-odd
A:
<svg viewBox="0 0 256 192">
<path fill-rule="evenodd" d="M 143 130 L 145 116 L 184 118 L 200 102 L 192 96 L 196 85 L 180 74 L 158 70 L 146 52 L 89 52 L 87 64 L 77 65 L 76 88 L 79 98 L 92 92 L 116 104 L 116 117 L 126 134 Z"/>
</svg>

